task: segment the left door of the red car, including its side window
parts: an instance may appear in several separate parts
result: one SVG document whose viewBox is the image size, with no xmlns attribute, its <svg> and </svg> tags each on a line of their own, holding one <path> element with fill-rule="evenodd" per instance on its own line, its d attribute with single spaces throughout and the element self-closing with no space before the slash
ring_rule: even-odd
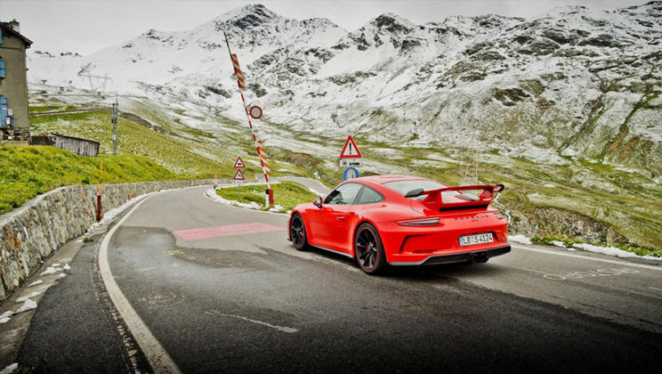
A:
<svg viewBox="0 0 662 374">
<path fill-rule="evenodd" d="M 359 183 L 344 183 L 331 191 L 322 208 L 310 215 L 313 245 L 349 253 L 351 248 L 343 245 L 351 235 L 351 204 L 361 189 Z"/>
</svg>

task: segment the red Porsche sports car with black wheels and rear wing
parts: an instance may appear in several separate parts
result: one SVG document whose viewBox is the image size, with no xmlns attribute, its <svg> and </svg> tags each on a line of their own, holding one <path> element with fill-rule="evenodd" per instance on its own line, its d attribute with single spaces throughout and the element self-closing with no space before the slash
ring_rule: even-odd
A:
<svg viewBox="0 0 662 374">
<path fill-rule="evenodd" d="M 504 185 L 450 187 L 430 179 L 375 175 L 339 184 L 288 220 L 287 240 L 356 258 L 375 274 L 385 264 L 484 263 L 510 252 L 508 222 L 489 207 Z"/>
</svg>

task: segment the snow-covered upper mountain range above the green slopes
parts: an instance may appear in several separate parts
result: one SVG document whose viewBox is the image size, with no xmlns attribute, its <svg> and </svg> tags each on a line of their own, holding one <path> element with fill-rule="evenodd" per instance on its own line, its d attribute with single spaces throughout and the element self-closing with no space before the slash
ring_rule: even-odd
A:
<svg viewBox="0 0 662 374">
<path fill-rule="evenodd" d="M 662 171 L 659 1 L 424 25 L 386 13 L 352 32 L 256 4 L 85 57 L 30 53 L 28 79 L 89 88 L 88 75 L 107 75 L 107 90 L 242 119 L 223 31 L 265 127 Z"/>
</svg>

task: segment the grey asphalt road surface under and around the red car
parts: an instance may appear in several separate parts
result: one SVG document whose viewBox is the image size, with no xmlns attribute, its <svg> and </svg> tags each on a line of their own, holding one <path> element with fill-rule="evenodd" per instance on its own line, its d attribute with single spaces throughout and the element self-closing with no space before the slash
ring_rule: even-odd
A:
<svg viewBox="0 0 662 374">
<path fill-rule="evenodd" d="M 371 277 L 349 258 L 295 251 L 285 239 L 286 215 L 225 207 L 205 190 L 145 200 L 108 248 L 117 286 L 183 372 L 662 368 L 661 266 L 515 245 L 487 264 L 392 268 Z M 103 290 L 94 291 L 96 247 L 84 247 L 72 263 L 91 289 L 72 290 L 76 272 L 65 279 L 69 286 L 49 289 L 19 362 L 77 371 L 92 355 L 84 343 L 93 335 L 116 348 L 90 343 L 91 369 L 102 371 L 99 362 L 108 360 L 106 371 L 144 370 L 130 334 L 107 336 L 125 327 L 108 318 L 113 309 Z M 93 312 L 62 308 L 63 300 Z M 66 328 L 67 315 L 77 314 L 69 323 L 88 326 Z M 64 326 L 44 333 L 48 321 Z M 60 347 L 70 339 L 83 342 L 75 348 L 81 352 Z M 44 351 L 52 351 L 49 360 Z"/>
</svg>

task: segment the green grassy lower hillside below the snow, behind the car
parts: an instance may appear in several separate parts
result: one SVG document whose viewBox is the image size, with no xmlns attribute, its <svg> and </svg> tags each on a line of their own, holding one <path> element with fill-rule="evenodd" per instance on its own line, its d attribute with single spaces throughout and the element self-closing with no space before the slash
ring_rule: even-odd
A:
<svg viewBox="0 0 662 374">
<path fill-rule="evenodd" d="M 262 176 L 247 129 L 240 124 L 214 118 L 225 130 L 213 133 L 183 125 L 180 118 L 158 105 L 134 106 L 133 112 L 156 125 L 158 131 L 138 125 L 140 120 L 136 123 L 121 118 L 119 154 L 145 155 L 176 175 L 205 177 L 214 173 L 231 177 L 232 163 L 241 155 L 248 166 L 246 177 Z M 263 125 L 263 131 L 281 138 L 275 145 L 268 142 L 274 175 L 311 177 L 317 172 L 329 186 L 341 182 L 337 153 L 328 150 L 340 152 L 345 135 L 308 136 L 282 124 L 264 121 Z M 85 137 L 101 142 L 102 152 L 112 151 L 112 125 L 106 111 L 35 117 L 32 126 L 37 134 L 58 132 Z M 476 182 L 463 178 L 475 171 L 480 183 L 505 183 L 507 190 L 500 202 L 513 216 L 513 232 L 602 245 L 662 248 L 662 191 L 656 182 L 658 175 L 645 169 L 572 158 L 537 163 L 496 152 L 370 142 L 360 134 L 353 138 L 364 156 L 361 175 L 420 175 L 457 185 Z M 287 149 L 283 146 L 287 139 L 303 142 L 309 150 Z M 311 149 L 319 149 L 319 153 L 311 153 Z M 466 166 L 474 161 L 476 165 L 467 173 Z M 263 196 L 255 199 L 262 201 Z"/>
</svg>

